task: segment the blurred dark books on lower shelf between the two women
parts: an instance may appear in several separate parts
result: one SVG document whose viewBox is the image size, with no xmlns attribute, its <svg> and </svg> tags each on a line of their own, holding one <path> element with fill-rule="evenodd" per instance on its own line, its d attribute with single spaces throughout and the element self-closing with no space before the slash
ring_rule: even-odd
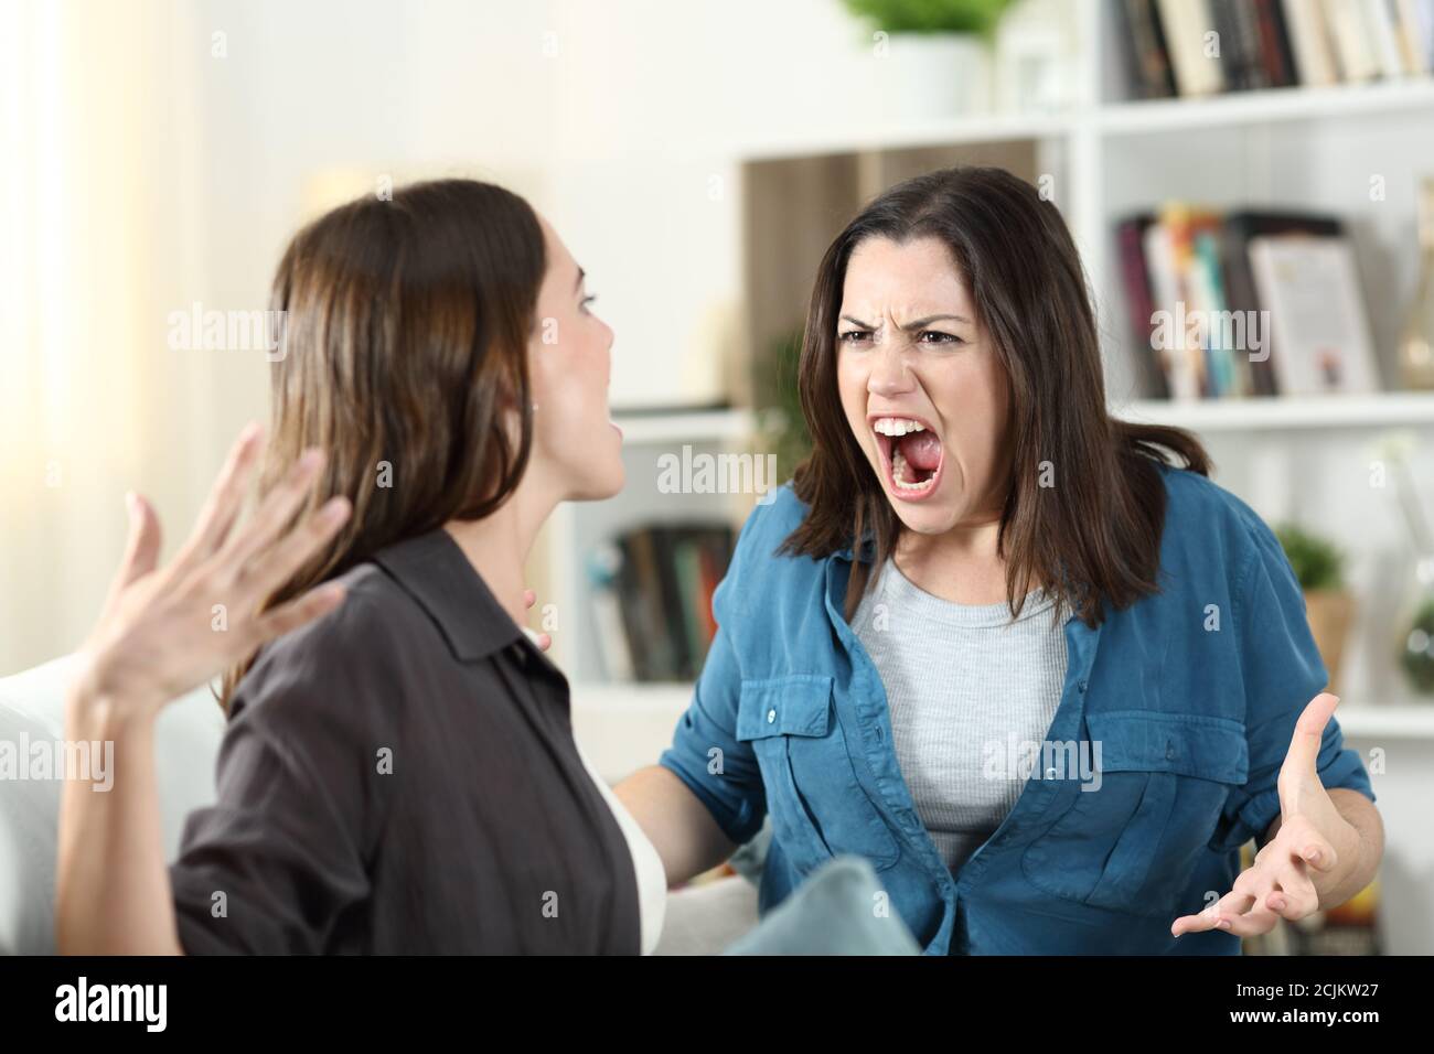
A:
<svg viewBox="0 0 1434 1054">
<path fill-rule="evenodd" d="M 727 574 L 727 523 L 645 525 L 588 556 L 604 673 L 612 681 L 691 681 L 717 634 L 713 592 Z"/>
</svg>

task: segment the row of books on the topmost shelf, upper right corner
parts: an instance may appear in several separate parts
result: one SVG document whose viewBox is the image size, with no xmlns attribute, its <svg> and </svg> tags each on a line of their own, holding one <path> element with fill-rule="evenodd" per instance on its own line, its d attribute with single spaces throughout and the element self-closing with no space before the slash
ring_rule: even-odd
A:
<svg viewBox="0 0 1434 1054">
<path fill-rule="evenodd" d="M 1146 99 L 1428 76 L 1434 0 L 1121 0 Z"/>
</svg>

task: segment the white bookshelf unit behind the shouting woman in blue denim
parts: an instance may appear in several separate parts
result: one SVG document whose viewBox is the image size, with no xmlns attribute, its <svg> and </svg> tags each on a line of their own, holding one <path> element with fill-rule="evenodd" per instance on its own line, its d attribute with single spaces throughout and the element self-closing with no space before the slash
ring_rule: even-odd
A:
<svg viewBox="0 0 1434 1054">
<path fill-rule="evenodd" d="M 1071 105 L 1060 113 L 988 113 L 911 125 L 827 123 L 786 136 L 767 130 L 747 142 L 728 143 L 728 159 L 740 172 L 764 162 L 802 165 L 849 158 L 850 168 L 843 172 L 856 172 L 862 192 L 868 194 L 899 176 L 902 165 L 909 168 L 928 158 L 929 163 L 941 163 L 944 151 L 977 158 L 991 151 L 998 158 L 1004 156 L 1001 152 L 1015 156 L 1027 151 L 1035 171 L 1054 179 L 1055 202 L 1083 254 L 1098 314 L 1113 413 L 1197 432 L 1216 459 L 1217 482 L 1268 519 L 1322 523 L 1354 552 L 1357 588 L 1374 597 L 1387 594 L 1388 588 L 1374 581 L 1377 568 L 1365 566 L 1365 558 L 1397 549 L 1398 525 L 1387 496 L 1378 495 L 1371 502 L 1367 490 L 1368 442 L 1391 427 L 1414 429 L 1421 440 L 1434 442 L 1434 393 L 1192 403 L 1146 399 L 1136 381 L 1133 356 L 1139 351 L 1129 347 L 1114 225 L 1167 199 L 1215 208 L 1309 208 L 1345 217 L 1367 287 L 1380 371 L 1391 387 L 1397 383 L 1392 348 L 1398 315 L 1415 280 L 1415 176 L 1434 174 L 1434 79 L 1129 100 L 1121 95 L 1124 62 L 1117 50 L 1117 6 L 1100 0 L 1076 0 L 1076 4 L 1080 62 L 1074 69 Z M 1387 181 L 1382 199 L 1368 195 L 1372 175 Z M 753 237 L 743 222 L 750 208 L 743 195 L 751 194 L 753 185 L 750 178 L 737 179 L 739 189 L 731 195 L 731 237 L 739 244 Z M 815 262 L 812 255 L 802 281 L 810 280 Z M 628 488 L 601 506 L 565 508 L 551 532 L 554 592 L 566 618 L 576 618 L 576 631 L 569 627 L 568 634 L 556 635 L 564 642 L 555 650 L 571 663 L 575 684 L 611 706 L 622 706 L 622 691 L 604 694 L 597 652 L 581 640 L 587 588 L 579 572 L 587 546 L 605 532 L 644 518 L 675 521 L 724 513 L 740 523 L 750 511 L 750 498 L 746 509 L 740 502 L 714 500 L 718 496 L 708 495 L 657 500 L 645 483 L 654 455 L 677 452 L 684 442 L 701 449 L 740 449 L 744 443 L 750 449 L 749 414 L 733 410 L 624 416 L 621 424 Z M 1421 476 L 1421 482 L 1434 480 Z M 1434 500 L 1430 508 L 1434 511 Z M 1367 721 L 1378 711 L 1384 724 L 1369 727 L 1425 736 L 1428 720 L 1418 706 L 1372 701 L 1400 698 L 1405 691 L 1397 681 L 1377 678 L 1375 664 L 1368 661 L 1377 648 L 1387 645 L 1388 625 L 1377 614 L 1361 612 L 1362 619 L 1378 625 L 1367 625 L 1362 638 L 1351 640 L 1352 654 L 1347 658 L 1345 681 L 1367 704 L 1357 710 L 1347 703 L 1342 718 Z M 1385 621 L 1387 617 L 1384 612 Z M 668 685 L 667 691 L 668 703 L 685 700 L 690 685 Z"/>
</svg>

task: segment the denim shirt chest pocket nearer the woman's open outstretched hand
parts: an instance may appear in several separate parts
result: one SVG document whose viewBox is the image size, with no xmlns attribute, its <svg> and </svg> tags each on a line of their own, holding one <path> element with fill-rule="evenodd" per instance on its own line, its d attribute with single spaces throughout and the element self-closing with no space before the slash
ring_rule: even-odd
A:
<svg viewBox="0 0 1434 1054">
<path fill-rule="evenodd" d="M 1157 710 L 1086 716 L 1093 769 L 1022 853 L 1031 885 L 1093 908 L 1195 913 L 1189 889 L 1230 792 L 1249 779 L 1240 721 Z M 1098 750 L 1098 753 L 1097 753 Z M 1226 891 L 1217 891 L 1223 895 Z"/>
</svg>

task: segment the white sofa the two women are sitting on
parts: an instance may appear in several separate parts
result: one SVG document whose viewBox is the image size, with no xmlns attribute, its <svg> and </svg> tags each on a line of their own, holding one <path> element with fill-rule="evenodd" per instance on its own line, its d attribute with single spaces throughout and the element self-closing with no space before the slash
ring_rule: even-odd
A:
<svg viewBox="0 0 1434 1054">
<path fill-rule="evenodd" d="M 24 744 L 65 737 L 65 685 L 70 657 L 0 678 L 0 749 L 11 757 Z M 581 700 L 574 701 L 575 710 Z M 625 720 L 619 708 L 602 714 L 604 743 L 642 741 L 614 730 Z M 575 721 L 582 736 L 582 721 Z M 224 737 L 224 714 L 208 688 L 166 707 L 156 728 L 161 813 L 165 846 L 178 853 L 184 820 L 214 800 L 214 763 Z M 595 757 L 601 771 L 624 771 L 652 759 Z M 24 760 L 23 757 L 19 760 Z M 627 766 L 627 769 L 624 767 Z M 22 766 L 20 774 L 27 774 Z M 11 779 L 0 771 L 0 954 L 54 952 L 54 850 L 60 782 Z M 701 955 L 726 948 L 757 921 L 757 892 L 744 878 L 724 878 L 670 895 L 658 955 Z"/>
</svg>

